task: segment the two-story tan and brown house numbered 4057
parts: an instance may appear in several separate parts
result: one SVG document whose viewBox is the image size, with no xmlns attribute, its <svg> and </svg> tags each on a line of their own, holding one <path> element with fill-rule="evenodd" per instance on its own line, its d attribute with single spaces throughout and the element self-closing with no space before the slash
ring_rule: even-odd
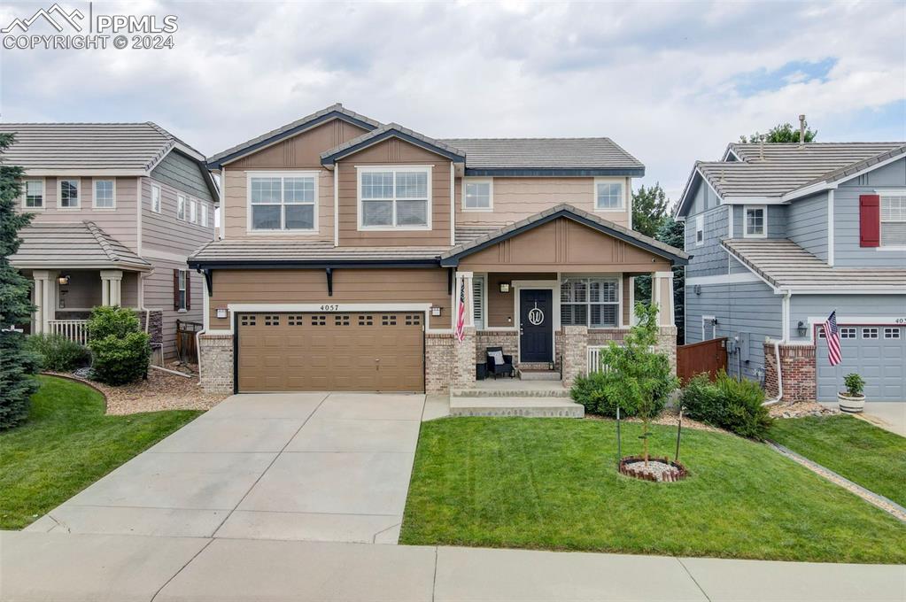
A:
<svg viewBox="0 0 906 602">
<path fill-rule="evenodd" d="M 628 330 L 639 274 L 675 356 L 688 255 L 631 230 L 644 167 L 610 139 L 430 139 L 337 104 L 208 167 L 222 240 L 189 258 L 208 389 L 446 391 L 493 346 L 568 383 Z"/>
</svg>

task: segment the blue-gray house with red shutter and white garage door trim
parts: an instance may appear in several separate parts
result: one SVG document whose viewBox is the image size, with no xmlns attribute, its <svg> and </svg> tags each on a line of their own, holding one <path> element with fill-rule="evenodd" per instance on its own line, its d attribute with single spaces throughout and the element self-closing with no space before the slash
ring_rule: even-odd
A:
<svg viewBox="0 0 906 602">
<path fill-rule="evenodd" d="M 834 400 L 859 372 L 870 399 L 906 399 L 906 143 L 730 144 L 696 163 L 676 213 L 687 343 L 728 337 L 730 372 L 771 396 Z"/>
</svg>

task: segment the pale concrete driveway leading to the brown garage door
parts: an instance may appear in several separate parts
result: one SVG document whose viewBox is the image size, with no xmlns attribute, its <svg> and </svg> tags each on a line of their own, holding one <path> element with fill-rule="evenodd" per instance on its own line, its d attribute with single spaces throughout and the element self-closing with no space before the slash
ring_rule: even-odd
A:
<svg viewBox="0 0 906 602">
<path fill-rule="evenodd" d="M 238 395 L 30 531 L 396 543 L 423 395 Z"/>
</svg>

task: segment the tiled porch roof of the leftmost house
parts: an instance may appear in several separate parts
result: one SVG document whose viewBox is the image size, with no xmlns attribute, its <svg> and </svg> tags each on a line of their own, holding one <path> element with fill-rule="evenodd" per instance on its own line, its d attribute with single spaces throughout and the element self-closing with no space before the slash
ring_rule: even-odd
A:
<svg viewBox="0 0 906 602">
<path fill-rule="evenodd" d="M 40 223 L 25 227 L 10 255 L 17 268 L 111 268 L 149 270 L 151 264 L 94 222 Z"/>
</svg>

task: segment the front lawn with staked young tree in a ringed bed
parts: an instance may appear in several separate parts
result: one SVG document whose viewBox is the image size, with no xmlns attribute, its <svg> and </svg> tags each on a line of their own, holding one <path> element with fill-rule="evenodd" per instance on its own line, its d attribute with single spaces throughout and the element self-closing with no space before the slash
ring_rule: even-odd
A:
<svg viewBox="0 0 906 602">
<path fill-rule="evenodd" d="M 652 452 L 675 429 L 653 426 Z M 623 423 L 623 453 L 641 427 Z M 445 418 L 421 426 L 400 542 L 742 559 L 906 562 L 906 526 L 734 435 L 683 432 L 689 477 L 616 472 L 615 423 Z"/>
</svg>

